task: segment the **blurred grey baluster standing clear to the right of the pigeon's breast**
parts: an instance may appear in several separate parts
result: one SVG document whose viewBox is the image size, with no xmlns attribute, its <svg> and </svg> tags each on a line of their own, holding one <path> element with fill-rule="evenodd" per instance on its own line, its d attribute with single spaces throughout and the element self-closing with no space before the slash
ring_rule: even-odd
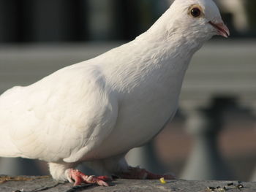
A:
<svg viewBox="0 0 256 192">
<path fill-rule="evenodd" d="M 218 150 L 218 134 L 222 130 L 222 113 L 232 99 L 214 99 L 211 107 L 188 114 L 187 131 L 194 137 L 194 146 L 182 179 L 229 180 L 230 172 Z"/>
</svg>

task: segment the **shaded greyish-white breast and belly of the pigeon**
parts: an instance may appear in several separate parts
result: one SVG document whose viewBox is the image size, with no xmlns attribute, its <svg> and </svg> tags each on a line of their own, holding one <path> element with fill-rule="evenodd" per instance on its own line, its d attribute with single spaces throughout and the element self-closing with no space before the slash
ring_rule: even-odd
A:
<svg viewBox="0 0 256 192">
<path fill-rule="evenodd" d="M 118 119 L 111 134 L 87 158 L 108 158 L 144 145 L 163 128 L 174 115 L 178 92 L 124 97 L 118 109 Z"/>
</svg>

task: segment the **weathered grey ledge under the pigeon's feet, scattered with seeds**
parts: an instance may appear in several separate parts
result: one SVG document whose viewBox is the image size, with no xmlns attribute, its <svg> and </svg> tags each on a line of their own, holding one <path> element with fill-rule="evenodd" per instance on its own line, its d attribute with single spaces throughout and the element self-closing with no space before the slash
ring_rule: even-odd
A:
<svg viewBox="0 0 256 192">
<path fill-rule="evenodd" d="M 234 185 L 227 186 L 233 183 Z M 0 177 L 0 192 L 147 192 L 147 191 L 175 191 L 175 192 L 210 192 L 214 190 L 208 187 L 216 188 L 215 191 L 222 192 L 220 188 L 227 186 L 224 190 L 228 192 L 255 192 L 255 182 L 241 183 L 244 188 L 236 188 L 237 181 L 189 181 L 189 180 L 168 180 L 162 184 L 159 180 L 114 180 L 110 187 L 100 187 L 97 185 L 83 185 L 72 187 L 70 183 L 56 183 L 51 177 Z M 217 187 L 220 187 L 217 189 Z"/>
</svg>

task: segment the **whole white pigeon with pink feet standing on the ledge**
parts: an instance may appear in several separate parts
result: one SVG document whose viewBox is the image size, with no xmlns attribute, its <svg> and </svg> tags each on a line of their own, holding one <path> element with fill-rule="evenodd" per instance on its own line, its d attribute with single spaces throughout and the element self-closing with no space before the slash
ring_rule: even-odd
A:
<svg viewBox="0 0 256 192">
<path fill-rule="evenodd" d="M 214 35 L 229 36 L 214 1 L 176 0 L 132 42 L 11 88 L 0 96 L 0 156 L 48 161 L 55 180 L 75 185 L 108 185 L 75 169 L 81 162 L 106 175 L 163 177 L 124 155 L 173 118 L 189 61 Z"/>
</svg>

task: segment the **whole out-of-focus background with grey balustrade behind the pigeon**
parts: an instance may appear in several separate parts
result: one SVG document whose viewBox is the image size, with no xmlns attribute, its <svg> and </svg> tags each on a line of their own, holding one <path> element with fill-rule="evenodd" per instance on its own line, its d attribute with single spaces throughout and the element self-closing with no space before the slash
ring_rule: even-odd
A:
<svg viewBox="0 0 256 192">
<path fill-rule="evenodd" d="M 154 141 L 132 150 L 129 164 L 189 180 L 256 181 L 256 1 L 216 3 L 230 38 L 214 37 L 195 55 L 176 117 Z M 170 4 L 0 0 L 0 93 L 134 39 Z M 0 174 L 48 174 L 48 168 L 0 158 Z"/>
</svg>

